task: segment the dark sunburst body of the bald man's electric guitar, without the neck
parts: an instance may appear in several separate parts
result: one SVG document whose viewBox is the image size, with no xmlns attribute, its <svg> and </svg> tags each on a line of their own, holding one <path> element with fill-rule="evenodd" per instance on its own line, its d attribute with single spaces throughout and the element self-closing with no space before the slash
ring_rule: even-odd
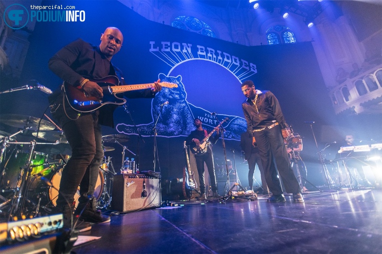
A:
<svg viewBox="0 0 382 254">
<path fill-rule="evenodd" d="M 126 103 L 125 99 L 118 98 L 111 90 L 108 89 L 110 86 L 117 86 L 119 80 L 115 76 L 107 76 L 102 79 L 89 79 L 92 82 L 97 83 L 103 90 L 103 98 L 99 99 L 90 95 L 81 87 L 73 87 L 72 85 L 63 83 L 63 89 L 66 95 L 66 100 L 73 110 L 87 113 L 95 111 L 104 105 L 123 105 Z"/>
</svg>

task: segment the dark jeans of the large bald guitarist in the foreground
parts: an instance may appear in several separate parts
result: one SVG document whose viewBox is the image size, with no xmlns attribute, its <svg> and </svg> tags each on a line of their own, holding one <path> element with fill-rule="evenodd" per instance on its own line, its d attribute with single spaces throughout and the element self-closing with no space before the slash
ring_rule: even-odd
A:
<svg viewBox="0 0 382 254">
<path fill-rule="evenodd" d="M 59 104 L 61 103 L 61 104 Z M 63 111 L 62 99 L 56 100 L 51 113 L 62 127 L 72 149 L 72 155 L 62 170 L 57 198 L 57 207 L 72 204 L 80 185 L 79 203 L 86 203 L 94 194 L 99 167 L 103 159 L 101 126 L 98 123 L 98 111 L 81 114 L 69 107 Z M 76 119 L 76 120 L 71 120 Z M 56 186 L 58 187 L 58 186 Z"/>
</svg>

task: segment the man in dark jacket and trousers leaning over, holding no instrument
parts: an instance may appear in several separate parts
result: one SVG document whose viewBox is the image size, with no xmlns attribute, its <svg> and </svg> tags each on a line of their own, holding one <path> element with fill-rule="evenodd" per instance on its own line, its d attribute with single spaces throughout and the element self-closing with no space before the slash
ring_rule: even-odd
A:
<svg viewBox="0 0 382 254">
<path fill-rule="evenodd" d="M 247 131 L 252 133 L 253 142 L 256 142 L 259 147 L 265 179 L 269 190 L 273 193 L 268 202 L 286 201 L 278 176 L 283 180 L 286 191 L 293 193 L 293 201 L 295 203 L 304 202 L 299 182 L 293 173 L 284 145 L 284 138 L 289 136 L 289 132 L 286 129 L 288 125 L 279 101 L 270 91 L 256 90 L 255 84 L 251 80 L 245 81 L 241 85 L 241 90 L 247 97 L 242 104 L 247 121 Z"/>
</svg>

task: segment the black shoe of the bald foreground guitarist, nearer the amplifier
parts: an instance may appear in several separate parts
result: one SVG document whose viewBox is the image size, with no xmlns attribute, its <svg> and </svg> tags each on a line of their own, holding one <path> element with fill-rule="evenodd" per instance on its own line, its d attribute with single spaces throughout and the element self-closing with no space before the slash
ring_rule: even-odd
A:
<svg viewBox="0 0 382 254">
<path fill-rule="evenodd" d="M 103 215 L 100 210 L 96 208 L 97 200 L 95 197 L 85 204 L 78 204 L 74 215 L 79 215 L 80 220 L 90 223 L 107 223 L 110 222 L 110 216 Z M 83 212 L 81 213 L 81 211 Z"/>
</svg>

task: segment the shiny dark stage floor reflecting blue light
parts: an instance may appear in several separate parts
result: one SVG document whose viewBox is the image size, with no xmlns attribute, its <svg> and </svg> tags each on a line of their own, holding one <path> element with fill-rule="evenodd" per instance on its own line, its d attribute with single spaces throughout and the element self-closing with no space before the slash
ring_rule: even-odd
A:
<svg viewBox="0 0 382 254">
<path fill-rule="evenodd" d="M 382 190 L 304 194 L 305 203 L 179 202 L 111 217 L 82 253 L 381 253 Z"/>
</svg>

